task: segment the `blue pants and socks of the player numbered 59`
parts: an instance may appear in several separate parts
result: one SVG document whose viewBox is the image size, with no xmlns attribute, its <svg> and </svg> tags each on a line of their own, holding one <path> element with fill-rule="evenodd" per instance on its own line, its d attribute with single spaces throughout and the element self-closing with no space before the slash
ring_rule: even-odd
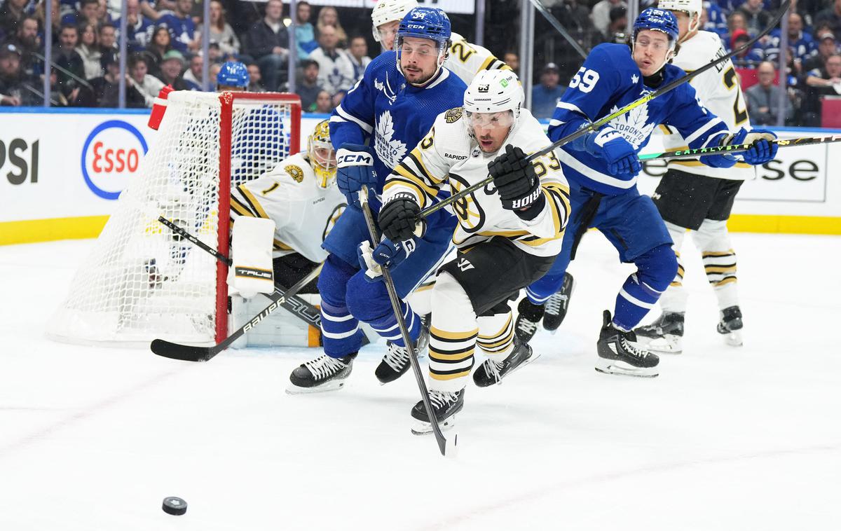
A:
<svg viewBox="0 0 841 531">
<path fill-rule="evenodd" d="M 672 239 L 663 218 L 651 198 L 640 195 L 636 187 L 618 196 L 603 196 L 595 213 L 586 216 L 593 192 L 570 183 L 573 217 L 563 235 L 563 247 L 552 269 L 526 288 L 526 295 L 535 304 L 542 304 L 563 284 L 579 230 L 595 227 L 619 251 L 622 262 L 633 263 L 637 271 L 627 277 L 613 313 L 613 323 L 630 330 L 654 307 L 661 294 L 674 280 L 677 260 L 671 250 Z M 589 220 L 587 218 L 590 218 Z"/>
</svg>

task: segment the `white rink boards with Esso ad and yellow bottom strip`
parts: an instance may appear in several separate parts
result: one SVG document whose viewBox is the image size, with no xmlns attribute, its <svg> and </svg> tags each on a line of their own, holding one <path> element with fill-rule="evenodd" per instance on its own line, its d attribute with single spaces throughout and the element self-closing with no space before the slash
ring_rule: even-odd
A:
<svg viewBox="0 0 841 531">
<path fill-rule="evenodd" d="M 146 110 L 3 108 L 0 244 L 96 237 L 155 141 L 147 118 Z M 302 140 L 323 118 L 304 116 Z M 780 138 L 833 133 L 776 130 Z M 644 151 L 662 150 L 655 134 Z M 755 178 L 743 185 L 731 229 L 841 234 L 841 187 L 829 173 L 838 161 L 839 144 L 780 150 L 776 160 L 758 168 Z M 664 164 L 648 162 L 639 178 L 640 190 L 653 192 L 663 172 Z"/>
</svg>

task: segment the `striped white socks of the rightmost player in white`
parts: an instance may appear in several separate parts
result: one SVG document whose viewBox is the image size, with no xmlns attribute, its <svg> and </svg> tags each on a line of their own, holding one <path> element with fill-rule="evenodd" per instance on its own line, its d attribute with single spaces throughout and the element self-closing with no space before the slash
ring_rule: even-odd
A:
<svg viewBox="0 0 841 531">
<path fill-rule="evenodd" d="M 660 299 L 660 306 L 664 312 L 683 313 L 686 311 L 686 299 L 689 297 L 683 287 L 684 265 L 680 259 L 680 248 L 685 239 L 686 229 L 669 222 L 666 222 L 666 228 L 674 240 L 678 272 Z M 705 219 L 701 227 L 692 234 L 692 242 L 701 251 L 706 280 L 716 293 L 718 308 L 723 310 L 738 305 L 736 253 L 733 251 L 733 244 L 730 243 L 727 221 Z"/>
</svg>

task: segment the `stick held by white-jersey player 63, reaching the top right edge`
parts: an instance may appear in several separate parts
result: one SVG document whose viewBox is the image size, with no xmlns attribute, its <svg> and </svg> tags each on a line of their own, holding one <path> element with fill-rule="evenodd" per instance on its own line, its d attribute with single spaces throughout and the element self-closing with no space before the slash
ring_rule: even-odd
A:
<svg viewBox="0 0 841 531">
<path fill-rule="evenodd" d="M 543 155 L 546 155 L 550 151 L 556 150 L 557 148 L 561 147 L 562 145 L 569 144 L 569 142 L 572 142 L 575 139 L 579 139 L 580 137 L 584 136 L 584 134 L 588 134 L 588 133 L 591 133 L 591 132 L 595 131 L 596 129 L 599 129 L 603 125 L 606 125 L 608 122 L 610 122 L 612 119 L 618 118 L 622 114 L 628 113 L 629 111 L 632 111 L 633 109 L 639 107 L 640 105 L 644 105 L 645 103 L 650 102 L 655 97 L 660 97 L 660 96 L 663 96 L 666 92 L 673 91 L 675 88 L 680 87 L 680 85 L 683 85 L 685 82 L 690 81 L 693 78 L 695 78 L 696 76 L 699 76 L 702 73 L 710 70 L 713 66 L 716 66 L 719 63 L 722 63 L 725 60 L 728 60 L 728 59 L 734 57 L 735 55 L 738 55 L 738 54 L 742 53 L 744 50 L 748 50 L 748 48 L 753 46 L 756 43 L 756 41 L 758 41 L 759 39 L 764 37 L 765 34 L 768 34 L 771 29 L 774 29 L 774 27 L 777 25 L 777 23 L 780 22 L 780 18 L 782 18 L 783 15 L 785 14 L 785 12 L 788 11 L 788 8 L 789 8 L 790 4 L 791 4 L 791 0 L 785 0 L 785 2 L 780 6 L 780 9 L 775 14 L 774 18 L 771 20 L 770 24 L 768 24 L 768 27 L 763 29 L 761 33 L 756 35 L 753 39 L 748 40 L 747 43 L 740 46 L 736 50 L 733 50 L 732 52 L 730 52 L 727 55 L 722 55 L 717 60 L 710 61 L 708 64 L 706 64 L 704 66 L 701 66 L 701 68 L 699 68 L 696 71 L 691 71 L 690 73 L 686 74 L 685 76 L 679 77 L 678 79 L 675 79 L 674 81 L 669 82 L 669 84 L 667 84 L 665 87 L 661 87 L 655 92 L 651 92 L 649 94 L 646 94 L 645 96 L 643 96 L 643 97 L 641 97 L 641 98 L 639 98 L 639 99 L 637 99 L 637 100 L 635 100 L 631 103 L 628 103 L 626 106 L 620 108 L 619 110 L 617 110 L 613 113 L 608 114 L 604 118 L 600 118 L 600 119 L 596 120 L 595 122 L 591 122 L 586 127 L 583 127 L 581 129 L 575 131 L 574 133 L 568 134 L 567 136 L 563 137 L 562 139 L 556 140 L 555 142 L 553 142 L 553 144 L 547 145 L 542 150 L 536 151 L 536 152 L 532 153 L 532 155 L 528 155 L 528 157 L 526 158 L 526 162 L 531 162 L 532 160 L 537 159 L 537 157 L 542 157 Z M 459 201 L 463 197 L 467 197 L 468 195 L 470 195 L 473 192 L 476 192 L 477 190 L 481 190 L 482 188 L 488 186 L 493 181 L 494 181 L 494 177 L 488 176 L 487 179 L 484 179 L 483 181 L 479 181 L 472 186 L 464 188 L 461 192 L 454 193 L 454 194 L 452 194 L 452 196 L 447 197 L 446 199 L 442 199 L 439 202 L 436 202 L 431 207 L 424 208 L 423 210 L 421 210 L 421 213 L 419 214 L 418 217 L 421 218 L 421 219 L 422 218 L 427 218 L 431 213 L 434 213 L 438 210 L 441 210 L 442 208 L 447 207 L 448 205 L 452 204 L 453 202 Z"/>
</svg>

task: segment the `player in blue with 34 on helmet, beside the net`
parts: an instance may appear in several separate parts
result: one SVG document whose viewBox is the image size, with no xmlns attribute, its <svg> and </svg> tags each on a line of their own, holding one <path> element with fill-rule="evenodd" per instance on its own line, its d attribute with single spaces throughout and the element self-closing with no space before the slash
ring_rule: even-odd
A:
<svg viewBox="0 0 841 531">
<path fill-rule="evenodd" d="M 295 369 L 288 392 L 343 386 L 362 345 L 360 321 L 388 340 L 388 352 L 375 372 L 379 381 L 393 381 L 410 366 L 382 281 L 371 281 L 360 271 L 357 248 L 368 242 L 370 235 L 359 208 L 358 192 L 367 185 L 369 190 L 382 193 L 386 176 L 426 136 L 436 116 L 462 105 L 467 86 L 442 66 L 449 39 L 446 13 L 435 8 L 412 9 L 399 24 L 395 51 L 371 61 L 362 80 L 333 112 L 336 182 L 347 197 L 348 208 L 323 244 L 330 252 L 318 283 L 325 355 Z M 378 209 L 377 197 L 371 197 L 370 202 Z M 451 248 L 455 225 L 456 219 L 442 209 L 426 219 L 422 238 L 402 243 L 386 239 L 379 244 L 376 252 L 393 255 L 392 276 L 401 298 L 405 299 L 442 264 Z M 421 318 L 406 302 L 403 315 L 416 348 L 421 350 L 428 342 Z"/>
</svg>

